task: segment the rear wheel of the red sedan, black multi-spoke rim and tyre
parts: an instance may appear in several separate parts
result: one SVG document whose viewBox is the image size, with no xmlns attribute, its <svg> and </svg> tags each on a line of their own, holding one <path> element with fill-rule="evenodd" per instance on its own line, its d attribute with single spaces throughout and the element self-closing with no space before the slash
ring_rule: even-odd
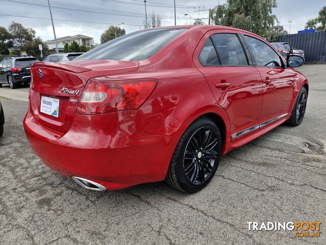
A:
<svg viewBox="0 0 326 245">
<path fill-rule="evenodd" d="M 181 136 L 170 161 L 166 182 L 187 193 L 203 189 L 218 168 L 221 152 L 218 126 L 209 117 L 198 118 Z"/>
</svg>

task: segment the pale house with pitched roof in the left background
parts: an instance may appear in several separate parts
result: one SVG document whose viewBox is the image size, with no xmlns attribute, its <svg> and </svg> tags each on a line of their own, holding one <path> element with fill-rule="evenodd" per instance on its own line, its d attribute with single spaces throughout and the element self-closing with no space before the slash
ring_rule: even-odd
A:
<svg viewBox="0 0 326 245">
<path fill-rule="evenodd" d="M 63 51 L 65 44 L 68 43 L 68 45 L 70 45 L 72 43 L 72 41 L 75 41 L 79 45 L 84 45 L 89 48 L 92 48 L 92 44 L 93 44 L 93 38 L 85 36 L 85 35 L 74 35 L 74 36 L 60 37 L 60 38 L 57 38 L 59 51 Z M 49 50 L 56 50 L 55 39 L 46 41 L 46 44 L 49 47 Z"/>
</svg>

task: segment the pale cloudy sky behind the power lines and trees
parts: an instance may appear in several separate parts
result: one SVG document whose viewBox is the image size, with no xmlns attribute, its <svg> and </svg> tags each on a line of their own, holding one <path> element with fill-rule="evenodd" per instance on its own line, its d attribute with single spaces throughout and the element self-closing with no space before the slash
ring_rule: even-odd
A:
<svg viewBox="0 0 326 245">
<path fill-rule="evenodd" d="M 213 8 L 219 2 L 220 4 L 226 2 L 226 0 L 175 1 L 177 25 L 192 24 L 192 18 L 207 18 L 209 8 Z M 162 26 L 174 26 L 173 2 L 174 0 L 147 0 L 147 13 L 161 15 Z M 277 3 L 278 7 L 273 9 L 273 13 L 281 18 L 280 23 L 287 31 L 290 29 L 288 21 L 292 21 L 291 34 L 303 30 L 306 21 L 317 17 L 319 10 L 326 5 L 324 0 L 309 2 L 278 0 Z M 121 27 L 126 33 L 142 29 L 145 16 L 143 0 L 50 0 L 50 5 L 57 38 L 83 34 L 93 37 L 96 43 L 100 43 L 101 33 L 111 24 L 124 22 Z M 47 0 L 0 0 L 0 6 L 0 26 L 7 28 L 12 21 L 16 21 L 24 27 L 33 28 L 36 36 L 40 36 L 44 41 L 54 39 Z M 199 8 L 196 6 L 200 6 L 201 11 L 198 11 Z M 204 21 L 208 22 L 205 19 Z"/>
</svg>

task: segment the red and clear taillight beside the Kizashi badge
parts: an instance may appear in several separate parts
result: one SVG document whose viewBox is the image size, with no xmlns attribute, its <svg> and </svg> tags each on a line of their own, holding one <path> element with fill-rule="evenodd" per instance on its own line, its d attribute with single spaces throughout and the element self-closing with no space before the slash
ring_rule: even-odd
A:
<svg viewBox="0 0 326 245">
<path fill-rule="evenodd" d="M 77 105 L 79 114 L 138 109 L 150 96 L 156 80 L 90 79 Z"/>
</svg>

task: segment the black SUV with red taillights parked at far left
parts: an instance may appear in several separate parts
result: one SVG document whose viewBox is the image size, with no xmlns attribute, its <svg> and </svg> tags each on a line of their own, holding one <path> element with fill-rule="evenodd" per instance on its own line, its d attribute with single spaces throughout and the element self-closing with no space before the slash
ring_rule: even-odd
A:
<svg viewBox="0 0 326 245">
<path fill-rule="evenodd" d="M 33 56 L 7 57 L 0 62 L 0 87 L 9 83 L 11 88 L 31 82 L 30 66 L 39 60 Z"/>
</svg>

